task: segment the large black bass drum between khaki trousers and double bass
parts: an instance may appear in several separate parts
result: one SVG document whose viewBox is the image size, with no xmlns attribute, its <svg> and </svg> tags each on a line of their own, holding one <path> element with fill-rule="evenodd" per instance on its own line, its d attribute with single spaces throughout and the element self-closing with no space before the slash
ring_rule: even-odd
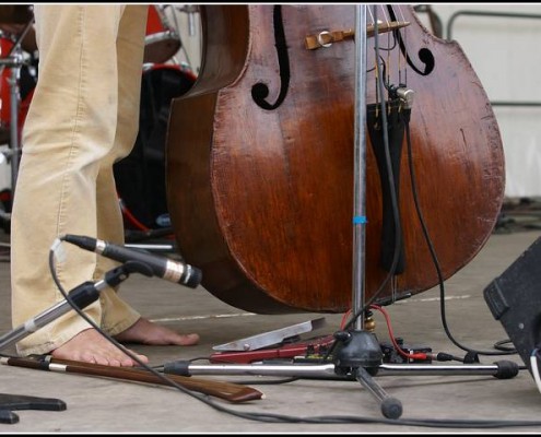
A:
<svg viewBox="0 0 541 437">
<path fill-rule="evenodd" d="M 127 229 L 169 226 L 165 192 L 165 137 L 169 106 L 196 82 L 175 64 L 145 64 L 141 82 L 139 133 L 131 153 L 114 166 Z"/>
</svg>

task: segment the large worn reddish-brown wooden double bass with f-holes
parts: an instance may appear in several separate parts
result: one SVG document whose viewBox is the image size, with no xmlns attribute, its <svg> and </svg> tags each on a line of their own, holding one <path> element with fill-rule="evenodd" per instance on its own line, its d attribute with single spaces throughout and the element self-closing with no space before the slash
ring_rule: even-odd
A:
<svg viewBox="0 0 541 437">
<path fill-rule="evenodd" d="M 180 253 L 234 307 L 351 308 L 354 8 L 201 7 L 201 70 L 170 106 L 167 205 Z M 427 32 L 411 7 L 383 7 L 378 20 L 408 24 L 367 38 L 364 293 L 385 302 L 428 290 L 472 260 L 494 228 L 505 173 L 495 116 L 459 45 Z M 415 95 L 395 158 L 400 269 L 388 282 L 385 235 L 393 240 L 397 228 L 371 126 L 387 98 L 378 69 Z"/>
</svg>

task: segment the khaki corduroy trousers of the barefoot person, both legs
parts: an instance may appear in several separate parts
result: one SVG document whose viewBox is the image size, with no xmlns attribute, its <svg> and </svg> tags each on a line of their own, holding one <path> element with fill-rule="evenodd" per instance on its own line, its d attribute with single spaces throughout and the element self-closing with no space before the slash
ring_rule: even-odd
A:
<svg viewBox="0 0 541 437">
<path fill-rule="evenodd" d="M 13 327 L 63 299 L 48 265 L 58 236 L 124 243 L 113 164 L 139 131 L 146 14 L 148 4 L 35 4 L 38 81 L 11 217 Z M 116 265 L 68 243 L 62 248 L 56 271 L 67 292 Z M 85 312 L 113 335 L 140 317 L 111 288 Z M 17 352 L 50 352 L 89 327 L 70 311 L 20 341 Z"/>
</svg>

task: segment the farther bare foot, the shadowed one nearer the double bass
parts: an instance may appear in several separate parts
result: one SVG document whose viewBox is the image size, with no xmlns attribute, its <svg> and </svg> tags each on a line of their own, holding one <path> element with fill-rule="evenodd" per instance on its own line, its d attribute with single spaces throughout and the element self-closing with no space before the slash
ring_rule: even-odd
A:
<svg viewBox="0 0 541 437">
<path fill-rule="evenodd" d="M 143 317 L 126 331 L 115 335 L 115 339 L 121 343 L 137 343 L 155 346 L 190 346 L 199 342 L 198 334 L 179 334 L 168 328 L 153 323 Z"/>
</svg>

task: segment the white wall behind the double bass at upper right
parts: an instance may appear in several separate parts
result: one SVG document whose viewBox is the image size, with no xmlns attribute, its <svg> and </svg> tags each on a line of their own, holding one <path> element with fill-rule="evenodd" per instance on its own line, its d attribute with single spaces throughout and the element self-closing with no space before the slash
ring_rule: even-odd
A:
<svg viewBox="0 0 541 437">
<path fill-rule="evenodd" d="M 432 4 L 451 39 L 462 47 L 491 102 L 540 106 L 493 106 L 506 161 L 507 197 L 541 196 L 541 4 Z M 462 11 L 533 14 L 538 17 L 472 16 Z M 427 15 L 419 16 L 431 29 Z"/>
</svg>

